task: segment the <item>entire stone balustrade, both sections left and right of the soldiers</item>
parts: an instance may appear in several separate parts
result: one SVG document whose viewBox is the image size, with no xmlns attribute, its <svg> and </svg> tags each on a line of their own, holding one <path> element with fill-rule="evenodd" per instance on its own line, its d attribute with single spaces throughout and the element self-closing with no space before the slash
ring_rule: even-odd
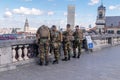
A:
<svg viewBox="0 0 120 80">
<path fill-rule="evenodd" d="M 97 50 L 120 44 L 120 35 L 92 35 L 92 40 L 94 50 Z M 0 71 L 3 65 L 17 66 L 35 59 L 38 55 L 38 46 L 35 42 L 35 39 L 0 41 Z"/>
</svg>

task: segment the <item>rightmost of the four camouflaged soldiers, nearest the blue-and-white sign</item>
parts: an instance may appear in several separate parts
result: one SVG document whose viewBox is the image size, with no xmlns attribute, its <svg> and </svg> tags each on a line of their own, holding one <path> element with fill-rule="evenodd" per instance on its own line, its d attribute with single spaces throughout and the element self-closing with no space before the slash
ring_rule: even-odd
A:
<svg viewBox="0 0 120 80">
<path fill-rule="evenodd" d="M 74 41 L 73 41 L 73 58 L 76 58 L 76 48 L 78 48 L 77 58 L 80 58 L 83 33 L 82 33 L 82 30 L 79 29 L 78 25 L 75 28 L 76 28 L 76 30 L 73 33 L 73 36 L 74 36 Z"/>
</svg>

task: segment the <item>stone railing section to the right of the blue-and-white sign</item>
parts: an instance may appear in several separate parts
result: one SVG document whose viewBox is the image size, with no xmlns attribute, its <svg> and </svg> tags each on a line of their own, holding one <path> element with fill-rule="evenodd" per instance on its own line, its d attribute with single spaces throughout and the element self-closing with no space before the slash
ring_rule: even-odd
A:
<svg viewBox="0 0 120 80">
<path fill-rule="evenodd" d="M 117 34 L 92 35 L 92 39 L 94 42 L 94 50 L 120 44 L 120 35 Z"/>
</svg>

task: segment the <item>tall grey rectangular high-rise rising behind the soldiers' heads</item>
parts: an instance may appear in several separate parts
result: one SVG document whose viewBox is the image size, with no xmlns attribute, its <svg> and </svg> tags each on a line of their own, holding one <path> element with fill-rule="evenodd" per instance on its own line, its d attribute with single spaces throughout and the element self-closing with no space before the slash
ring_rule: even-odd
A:
<svg viewBox="0 0 120 80">
<path fill-rule="evenodd" d="M 73 5 L 68 6 L 67 24 L 70 24 L 71 28 L 74 29 L 74 26 L 75 26 L 75 6 L 73 6 Z"/>
</svg>

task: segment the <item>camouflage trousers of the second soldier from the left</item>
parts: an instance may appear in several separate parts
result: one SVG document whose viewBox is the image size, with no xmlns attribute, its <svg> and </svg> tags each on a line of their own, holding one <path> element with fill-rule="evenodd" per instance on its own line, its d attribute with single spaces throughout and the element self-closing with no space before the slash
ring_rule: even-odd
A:
<svg viewBox="0 0 120 80">
<path fill-rule="evenodd" d="M 55 60 L 59 60 L 59 43 L 52 43 L 52 51 L 54 53 Z"/>
</svg>

